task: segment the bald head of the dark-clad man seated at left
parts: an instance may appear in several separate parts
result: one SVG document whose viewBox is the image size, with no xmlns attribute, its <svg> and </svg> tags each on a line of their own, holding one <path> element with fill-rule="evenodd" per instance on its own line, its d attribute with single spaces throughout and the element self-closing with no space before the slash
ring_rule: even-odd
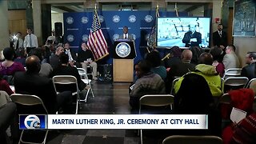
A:
<svg viewBox="0 0 256 144">
<path fill-rule="evenodd" d="M 26 69 L 28 73 L 38 74 L 41 69 L 40 59 L 35 55 L 26 58 Z"/>
</svg>

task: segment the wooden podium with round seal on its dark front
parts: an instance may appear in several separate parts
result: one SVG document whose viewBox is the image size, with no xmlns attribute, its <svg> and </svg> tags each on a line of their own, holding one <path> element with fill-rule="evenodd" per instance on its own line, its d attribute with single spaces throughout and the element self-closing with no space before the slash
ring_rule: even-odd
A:
<svg viewBox="0 0 256 144">
<path fill-rule="evenodd" d="M 119 39 L 114 42 L 113 82 L 134 81 L 134 41 Z"/>
</svg>

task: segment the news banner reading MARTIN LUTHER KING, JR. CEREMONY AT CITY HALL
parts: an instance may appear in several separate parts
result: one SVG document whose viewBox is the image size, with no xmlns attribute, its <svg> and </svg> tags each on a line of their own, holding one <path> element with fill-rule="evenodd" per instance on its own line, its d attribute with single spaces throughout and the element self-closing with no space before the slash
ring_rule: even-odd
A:
<svg viewBox="0 0 256 144">
<path fill-rule="evenodd" d="M 207 114 L 26 114 L 20 129 L 208 129 Z"/>
</svg>

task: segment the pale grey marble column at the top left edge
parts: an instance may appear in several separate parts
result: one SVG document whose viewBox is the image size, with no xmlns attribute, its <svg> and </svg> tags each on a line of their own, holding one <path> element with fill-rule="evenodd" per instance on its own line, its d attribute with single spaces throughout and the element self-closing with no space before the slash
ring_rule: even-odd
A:
<svg viewBox="0 0 256 144">
<path fill-rule="evenodd" d="M 10 46 L 9 42 L 9 22 L 7 1 L 0 1 L 0 50 Z"/>
</svg>

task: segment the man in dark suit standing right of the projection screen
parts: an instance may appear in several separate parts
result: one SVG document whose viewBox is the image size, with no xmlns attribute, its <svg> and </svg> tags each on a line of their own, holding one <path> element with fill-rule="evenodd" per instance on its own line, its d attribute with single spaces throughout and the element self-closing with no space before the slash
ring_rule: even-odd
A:
<svg viewBox="0 0 256 144">
<path fill-rule="evenodd" d="M 213 34 L 213 44 L 214 46 L 219 46 L 226 48 L 227 46 L 227 35 L 226 32 L 222 30 L 222 24 L 218 24 L 218 30 Z"/>
</svg>

